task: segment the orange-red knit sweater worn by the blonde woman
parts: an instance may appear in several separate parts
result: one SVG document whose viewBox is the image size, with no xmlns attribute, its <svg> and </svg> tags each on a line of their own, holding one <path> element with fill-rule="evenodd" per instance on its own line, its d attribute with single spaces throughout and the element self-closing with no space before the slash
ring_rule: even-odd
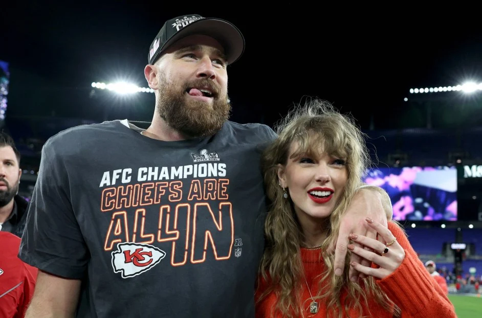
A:
<svg viewBox="0 0 482 318">
<path fill-rule="evenodd" d="M 385 277 L 377 279 L 376 282 L 380 288 L 386 293 L 402 311 L 402 318 L 456 318 L 455 310 L 440 286 L 433 280 L 424 267 L 422 261 L 419 260 L 417 254 L 411 247 L 407 237 L 403 231 L 394 223 L 389 222 L 388 228 L 397 237 L 397 241 L 405 250 L 405 259 L 395 272 Z M 310 286 L 313 296 L 317 295 L 318 280 L 315 280 L 324 271 L 324 262 L 320 260 L 321 250 L 301 249 L 301 258 L 303 261 L 304 273 L 306 281 Z M 287 273 L 288 274 L 288 273 Z M 303 284 L 302 301 L 310 299 L 310 292 Z M 259 286 L 256 290 L 256 301 L 261 293 L 267 288 L 266 282 L 260 278 Z M 343 293 L 341 301 L 346 297 Z M 304 302 L 305 317 L 326 317 L 327 308 L 322 299 L 317 300 L 318 313 L 311 314 L 309 310 L 310 301 Z M 270 293 L 266 298 L 256 305 L 256 318 L 271 317 L 272 308 L 276 303 L 274 292 Z M 368 310 L 369 309 L 369 310 Z M 391 318 L 393 313 L 385 310 L 373 299 L 368 299 L 368 307 L 362 304 L 362 314 L 365 317 Z M 350 312 L 350 316 L 360 316 L 355 310 Z M 277 312 L 273 317 L 282 317 Z"/>
</svg>

